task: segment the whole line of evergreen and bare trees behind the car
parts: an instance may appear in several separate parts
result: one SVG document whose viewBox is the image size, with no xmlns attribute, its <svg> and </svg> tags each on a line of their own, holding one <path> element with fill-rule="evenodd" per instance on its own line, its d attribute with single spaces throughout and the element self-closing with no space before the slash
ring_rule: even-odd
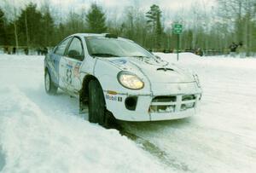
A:
<svg viewBox="0 0 256 173">
<path fill-rule="evenodd" d="M 77 32 L 110 32 L 126 37 L 154 51 L 172 51 L 177 35 L 164 21 L 163 11 L 153 4 L 145 13 L 128 7 L 122 19 L 109 19 L 96 3 L 86 12 L 71 10 L 67 19 L 53 17 L 49 4 L 38 9 L 28 3 L 23 9 L 12 10 L 12 18 L 0 8 L 0 45 L 28 48 L 52 47 L 64 37 Z M 256 51 L 256 2 L 253 0 L 218 0 L 218 8 L 206 13 L 192 7 L 191 15 L 176 16 L 172 23 L 183 24 L 180 48 L 183 50 L 229 51 L 232 42 L 242 43 L 249 55 Z"/>
</svg>

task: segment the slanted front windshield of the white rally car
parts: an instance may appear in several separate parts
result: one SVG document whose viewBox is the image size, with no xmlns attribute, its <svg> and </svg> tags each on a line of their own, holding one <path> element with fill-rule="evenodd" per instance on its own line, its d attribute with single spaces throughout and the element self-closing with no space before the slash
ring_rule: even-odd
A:
<svg viewBox="0 0 256 173">
<path fill-rule="evenodd" d="M 108 37 L 85 37 L 85 40 L 91 56 L 154 58 L 148 50 L 130 41 Z"/>
</svg>

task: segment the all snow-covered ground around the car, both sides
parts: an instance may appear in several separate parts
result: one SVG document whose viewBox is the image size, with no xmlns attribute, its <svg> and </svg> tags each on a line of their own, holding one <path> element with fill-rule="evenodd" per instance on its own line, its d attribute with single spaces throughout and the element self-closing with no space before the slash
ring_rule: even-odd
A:
<svg viewBox="0 0 256 173">
<path fill-rule="evenodd" d="M 176 62 L 176 55 L 157 54 Z M 256 59 L 181 54 L 199 74 L 201 111 L 174 121 L 122 123 L 162 154 L 78 116 L 79 103 L 44 92 L 44 57 L 0 55 L 0 172 L 255 172 Z"/>
</svg>

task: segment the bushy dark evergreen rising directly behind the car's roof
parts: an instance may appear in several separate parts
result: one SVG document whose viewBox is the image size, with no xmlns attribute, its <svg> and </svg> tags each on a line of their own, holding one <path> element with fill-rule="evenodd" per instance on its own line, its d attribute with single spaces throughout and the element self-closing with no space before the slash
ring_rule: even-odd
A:
<svg viewBox="0 0 256 173">
<path fill-rule="evenodd" d="M 102 33 L 107 31 L 105 14 L 95 3 L 91 4 L 90 11 L 86 14 L 86 21 L 89 32 Z"/>
</svg>

